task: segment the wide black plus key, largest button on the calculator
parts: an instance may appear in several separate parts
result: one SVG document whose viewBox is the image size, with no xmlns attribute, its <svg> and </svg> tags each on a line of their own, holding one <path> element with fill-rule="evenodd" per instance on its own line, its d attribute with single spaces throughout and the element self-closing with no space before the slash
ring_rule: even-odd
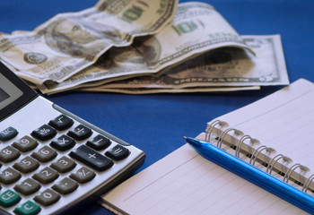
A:
<svg viewBox="0 0 314 215">
<path fill-rule="evenodd" d="M 98 171 L 104 171 L 111 168 L 113 165 L 113 161 L 111 159 L 106 158 L 96 150 L 92 150 L 85 145 L 81 145 L 76 150 L 71 151 L 70 156 Z"/>
</svg>

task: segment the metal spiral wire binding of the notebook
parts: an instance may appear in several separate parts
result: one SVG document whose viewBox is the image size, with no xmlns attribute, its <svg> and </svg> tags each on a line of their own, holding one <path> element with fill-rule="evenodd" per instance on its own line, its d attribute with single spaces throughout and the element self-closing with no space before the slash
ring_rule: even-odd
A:
<svg viewBox="0 0 314 215">
<path fill-rule="evenodd" d="M 213 134 L 215 131 L 215 135 Z M 228 142 L 226 141 L 226 136 L 230 135 L 236 138 L 236 142 Z M 212 141 L 211 137 L 214 136 L 214 140 Z M 244 134 L 240 130 L 236 128 L 232 128 L 228 125 L 228 123 L 223 122 L 221 120 L 214 120 L 214 122 L 207 123 L 207 127 L 205 130 L 205 142 L 216 142 L 218 148 L 222 148 L 222 143 L 229 145 L 235 152 L 234 156 L 240 159 L 240 151 L 246 154 L 246 157 L 249 157 L 249 164 L 255 166 L 257 159 L 258 162 L 262 163 L 264 167 L 266 167 L 266 173 L 272 175 L 272 172 L 275 171 L 279 175 L 283 176 L 283 182 L 288 183 L 292 178 L 293 172 L 296 169 L 300 168 L 301 172 L 309 171 L 309 168 L 301 165 L 300 163 L 293 164 L 290 168 L 283 166 L 285 169 L 276 168 L 276 164 L 279 163 L 280 160 L 283 160 L 283 163 L 288 164 L 292 163 L 292 159 L 288 158 L 283 154 L 275 154 L 275 149 L 267 147 L 266 145 L 260 145 L 260 142 L 252 138 L 249 134 Z M 247 143 L 245 143 L 247 142 Z M 249 146 L 249 148 L 253 149 L 249 151 L 245 150 L 243 145 Z M 258 145 L 258 147 L 255 147 Z M 263 151 L 266 153 L 263 154 Z M 269 161 L 265 161 L 263 159 L 259 159 L 258 156 L 260 154 L 266 155 Z M 274 157 L 270 157 L 270 154 L 275 154 Z M 295 172 L 296 173 L 296 172 Z M 301 175 L 299 175 L 301 176 Z M 305 177 L 304 177 L 305 178 Z M 314 174 L 301 180 L 293 178 L 295 184 L 301 186 L 301 190 L 304 193 L 307 193 L 309 190 L 314 193 L 314 186 L 310 187 L 311 183 L 314 180 Z"/>
</svg>

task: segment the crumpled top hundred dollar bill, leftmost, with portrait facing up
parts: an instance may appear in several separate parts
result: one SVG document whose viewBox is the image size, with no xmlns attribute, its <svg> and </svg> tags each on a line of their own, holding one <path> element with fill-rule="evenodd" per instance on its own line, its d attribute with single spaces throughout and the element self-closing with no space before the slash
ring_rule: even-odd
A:
<svg viewBox="0 0 314 215">
<path fill-rule="evenodd" d="M 110 47 L 129 46 L 168 24 L 179 0 L 100 0 L 78 13 L 60 13 L 33 31 L 0 35 L 0 56 L 36 84 L 62 82 Z"/>
</svg>

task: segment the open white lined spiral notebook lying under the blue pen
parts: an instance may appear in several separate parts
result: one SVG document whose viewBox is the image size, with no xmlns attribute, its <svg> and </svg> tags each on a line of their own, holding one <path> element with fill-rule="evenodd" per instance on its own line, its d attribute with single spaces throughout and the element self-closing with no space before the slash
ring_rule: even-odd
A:
<svg viewBox="0 0 314 215">
<path fill-rule="evenodd" d="M 220 116 L 197 138 L 314 196 L 312 82 L 298 80 Z M 306 214 L 188 144 L 106 193 L 101 203 L 117 214 Z"/>
</svg>

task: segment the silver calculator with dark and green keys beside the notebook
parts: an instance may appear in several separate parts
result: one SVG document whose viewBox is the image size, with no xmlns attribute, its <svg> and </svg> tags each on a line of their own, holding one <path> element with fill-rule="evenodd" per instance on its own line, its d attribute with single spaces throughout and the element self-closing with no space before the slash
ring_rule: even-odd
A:
<svg viewBox="0 0 314 215">
<path fill-rule="evenodd" d="M 0 214 L 66 214 L 97 201 L 144 159 L 0 64 Z"/>
</svg>

